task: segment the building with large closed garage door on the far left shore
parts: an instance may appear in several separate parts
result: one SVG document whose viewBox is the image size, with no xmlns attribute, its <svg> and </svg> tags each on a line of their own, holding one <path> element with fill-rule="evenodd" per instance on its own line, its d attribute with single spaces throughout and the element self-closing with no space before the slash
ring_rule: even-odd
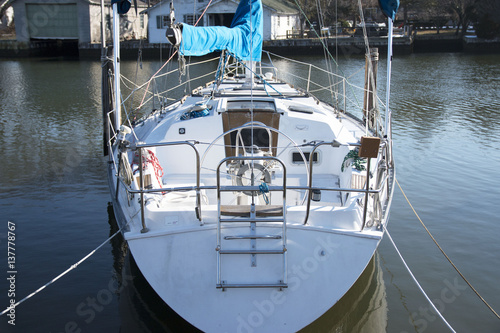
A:
<svg viewBox="0 0 500 333">
<path fill-rule="evenodd" d="M 101 42 L 101 3 L 98 0 L 11 0 L 14 8 L 16 39 L 77 41 L 78 44 Z M 111 39 L 111 1 L 105 0 L 107 39 Z M 146 38 L 147 16 L 140 14 L 147 8 L 138 1 L 121 15 L 121 36 L 124 39 Z"/>
</svg>

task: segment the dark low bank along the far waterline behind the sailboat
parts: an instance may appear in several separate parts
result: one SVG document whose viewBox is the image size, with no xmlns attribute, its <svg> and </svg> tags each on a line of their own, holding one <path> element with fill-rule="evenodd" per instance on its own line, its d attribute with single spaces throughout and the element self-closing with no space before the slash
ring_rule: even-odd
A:
<svg viewBox="0 0 500 333">
<path fill-rule="evenodd" d="M 370 37 L 371 47 L 378 47 L 381 53 L 387 48 L 387 37 Z M 267 51 L 290 55 L 311 54 L 322 52 L 323 44 L 333 53 L 344 56 L 364 54 L 365 44 L 362 37 L 341 36 L 338 38 L 303 38 L 279 39 L 264 42 Z M 121 43 L 123 59 L 136 59 L 138 50 L 142 50 L 143 59 L 158 58 L 168 54 L 170 44 L 150 44 L 141 41 L 124 41 Z M 395 55 L 423 52 L 500 52 L 500 38 L 485 40 L 475 36 L 465 36 L 463 39 L 452 33 L 421 34 L 411 36 L 395 36 L 393 40 Z M 100 44 L 79 44 L 76 40 L 34 40 L 17 42 L 15 40 L 0 40 L 0 58 L 26 58 L 39 56 L 69 56 L 80 59 L 99 59 Z"/>
</svg>

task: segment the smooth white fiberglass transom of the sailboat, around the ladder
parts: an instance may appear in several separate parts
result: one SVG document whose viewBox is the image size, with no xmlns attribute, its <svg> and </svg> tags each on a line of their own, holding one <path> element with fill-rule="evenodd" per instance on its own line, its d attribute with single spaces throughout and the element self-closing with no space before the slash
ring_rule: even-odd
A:
<svg viewBox="0 0 500 333">
<path fill-rule="evenodd" d="M 350 289 L 380 241 L 375 235 L 349 236 L 290 226 L 288 288 L 223 291 L 216 288 L 214 227 L 201 226 L 158 237 L 128 237 L 125 233 L 125 237 L 137 265 L 157 294 L 205 332 L 292 332 L 307 326 Z M 250 267 L 250 258 L 245 262 Z M 226 275 L 245 281 L 252 269 L 276 268 L 272 261 L 259 257 L 257 266 L 233 271 L 229 268 Z"/>
</svg>

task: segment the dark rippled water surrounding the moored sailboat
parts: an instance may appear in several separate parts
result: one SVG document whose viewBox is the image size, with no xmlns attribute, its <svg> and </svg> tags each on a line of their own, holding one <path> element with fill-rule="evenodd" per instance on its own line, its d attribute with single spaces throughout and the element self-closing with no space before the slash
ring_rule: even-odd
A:
<svg viewBox="0 0 500 333">
<path fill-rule="evenodd" d="M 340 59 L 346 73 L 363 62 Z M 122 66 L 127 76 L 135 75 L 135 63 Z M 139 76 L 147 77 L 158 67 L 157 62 L 145 63 Z M 99 62 L 88 61 L 0 62 L 1 310 L 12 298 L 6 280 L 9 221 L 16 226 L 16 300 L 69 268 L 114 231 L 101 157 L 100 70 Z M 393 70 L 397 178 L 441 246 L 499 312 L 500 58 L 411 55 L 396 57 Z M 500 320 L 444 259 L 399 189 L 389 232 L 457 332 L 500 331 Z M 186 331 L 125 254 L 119 239 L 106 244 L 20 305 L 15 326 L 8 324 L 9 317 L 0 317 L 0 332 Z M 447 328 L 386 237 L 348 296 L 309 331 Z"/>
</svg>

